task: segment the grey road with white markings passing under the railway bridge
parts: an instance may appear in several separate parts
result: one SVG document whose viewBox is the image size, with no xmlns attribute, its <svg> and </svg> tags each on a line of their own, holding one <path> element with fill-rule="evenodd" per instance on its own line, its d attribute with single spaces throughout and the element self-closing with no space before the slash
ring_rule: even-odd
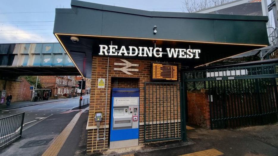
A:
<svg viewBox="0 0 278 156">
<path fill-rule="evenodd" d="M 83 99 L 86 98 L 89 98 L 89 95 L 83 96 Z M 85 104 L 86 103 L 87 100 L 85 100 Z M 0 118 L 25 112 L 23 121 L 23 130 L 25 130 L 48 116 L 59 114 L 78 106 L 79 98 L 68 98 L 65 99 L 65 101 L 57 101 L 23 108 L 4 110 L 1 111 Z"/>
</svg>

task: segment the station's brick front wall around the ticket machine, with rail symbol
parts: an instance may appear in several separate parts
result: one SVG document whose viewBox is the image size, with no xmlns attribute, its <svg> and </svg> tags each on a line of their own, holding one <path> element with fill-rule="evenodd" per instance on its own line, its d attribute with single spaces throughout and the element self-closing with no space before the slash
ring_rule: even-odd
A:
<svg viewBox="0 0 278 156">
<path fill-rule="evenodd" d="M 133 69 L 138 69 L 138 72 L 131 71 L 133 75 L 127 75 L 122 71 L 114 71 L 114 68 L 121 68 L 123 66 L 114 65 L 114 63 L 124 63 L 120 58 L 109 58 L 109 76 L 108 76 L 108 96 L 107 96 L 107 119 L 106 119 L 106 130 L 109 130 L 109 115 L 110 115 L 110 92 L 111 88 L 117 85 L 118 88 L 139 88 L 140 89 L 140 144 L 142 144 L 142 134 L 144 135 L 144 129 L 142 131 L 142 123 L 144 122 L 144 85 L 145 82 L 150 82 L 150 65 L 151 60 L 139 60 L 139 59 L 125 59 L 132 64 L 139 64 L 139 67 L 130 67 Z M 106 88 L 98 88 L 98 78 L 105 79 L 105 86 L 107 83 L 107 57 L 93 56 L 92 58 L 92 79 L 91 79 L 91 96 L 90 96 L 90 106 L 89 106 L 89 117 L 88 117 L 88 135 L 95 136 L 96 122 L 94 122 L 94 112 L 103 111 L 105 114 L 105 104 L 106 104 Z M 179 65 L 180 68 L 180 65 Z M 180 76 L 179 76 L 180 77 Z M 115 84 L 115 82 L 117 84 Z M 179 91 L 178 91 L 179 92 Z M 178 93 L 179 94 L 179 93 Z M 105 115 L 103 115 L 105 118 Z M 100 129 L 104 127 L 105 121 L 100 123 Z M 143 125 L 144 128 L 144 125 Z M 102 134 L 103 135 L 103 134 Z M 106 138 L 108 141 L 108 133 L 106 133 Z M 100 144 L 99 141 L 91 140 L 88 138 L 87 153 L 97 152 L 99 150 L 108 149 L 108 142 Z"/>
</svg>

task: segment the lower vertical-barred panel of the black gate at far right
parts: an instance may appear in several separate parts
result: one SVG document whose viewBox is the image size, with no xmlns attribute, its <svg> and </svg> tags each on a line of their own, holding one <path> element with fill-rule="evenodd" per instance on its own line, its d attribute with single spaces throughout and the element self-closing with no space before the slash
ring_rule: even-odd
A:
<svg viewBox="0 0 278 156">
<path fill-rule="evenodd" d="M 213 128 L 277 121 L 275 78 L 208 81 L 208 88 Z"/>
</svg>

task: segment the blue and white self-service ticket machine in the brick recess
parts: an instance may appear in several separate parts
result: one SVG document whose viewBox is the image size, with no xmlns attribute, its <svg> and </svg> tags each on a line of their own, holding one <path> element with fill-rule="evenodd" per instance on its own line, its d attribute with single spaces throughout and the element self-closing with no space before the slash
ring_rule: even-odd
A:
<svg viewBox="0 0 278 156">
<path fill-rule="evenodd" d="M 110 149 L 138 146 L 139 94 L 138 88 L 112 89 Z"/>
</svg>

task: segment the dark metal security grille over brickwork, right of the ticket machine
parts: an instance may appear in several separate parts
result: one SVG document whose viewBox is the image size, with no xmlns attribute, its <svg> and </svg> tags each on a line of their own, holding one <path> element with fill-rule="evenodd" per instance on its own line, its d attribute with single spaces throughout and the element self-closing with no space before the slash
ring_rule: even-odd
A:
<svg viewBox="0 0 278 156">
<path fill-rule="evenodd" d="M 181 139 L 180 83 L 145 82 L 145 142 Z"/>
</svg>

